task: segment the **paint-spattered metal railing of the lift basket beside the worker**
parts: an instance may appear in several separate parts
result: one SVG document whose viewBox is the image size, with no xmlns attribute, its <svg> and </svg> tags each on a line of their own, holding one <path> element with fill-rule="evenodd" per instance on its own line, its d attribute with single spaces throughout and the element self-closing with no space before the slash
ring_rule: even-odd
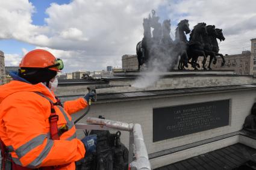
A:
<svg viewBox="0 0 256 170">
<path fill-rule="evenodd" d="M 148 151 L 143 139 L 140 124 L 128 124 L 120 121 L 105 120 L 99 118 L 87 118 L 87 124 L 77 123 L 76 129 L 87 130 L 122 130 L 130 133 L 129 140 L 129 167 L 131 170 L 151 170 L 148 159 Z M 133 157 L 133 151 L 134 156 Z"/>
</svg>

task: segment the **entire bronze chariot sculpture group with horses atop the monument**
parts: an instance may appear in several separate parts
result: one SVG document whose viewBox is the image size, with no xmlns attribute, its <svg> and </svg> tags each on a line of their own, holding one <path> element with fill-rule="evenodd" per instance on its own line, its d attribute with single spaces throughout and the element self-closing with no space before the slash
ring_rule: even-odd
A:
<svg viewBox="0 0 256 170">
<path fill-rule="evenodd" d="M 173 69 L 178 62 L 178 69 L 183 70 L 191 64 L 197 70 L 199 64 L 198 57 L 203 56 L 202 68 L 207 70 L 207 56 L 210 56 L 208 69 L 211 70 L 211 62 L 216 64 L 216 56 L 222 57 L 222 66 L 225 64 L 223 55 L 219 53 L 217 38 L 222 41 L 225 37 L 222 29 L 215 28 L 214 25 L 206 26 L 206 23 L 198 23 L 190 33 L 189 20 L 181 20 L 175 31 L 175 41 L 170 37 L 170 20 L 164 20 L 163 24 L 159 22 L 160 17 L 155 15 L 152 10 L 152 17 L 149 14 L 148 19 L 143 19 L 144 36 L 136 46 L 138 59 L 138 70 L 143 64 L 147 68 L 161 65 L 161 67 Z M 151 33 L 151 28 L 152 33 Z M 189 41 L 186 34 L 190 33 Z M 158 63 L 158 64 L 156 64 Z"/>
</svg>

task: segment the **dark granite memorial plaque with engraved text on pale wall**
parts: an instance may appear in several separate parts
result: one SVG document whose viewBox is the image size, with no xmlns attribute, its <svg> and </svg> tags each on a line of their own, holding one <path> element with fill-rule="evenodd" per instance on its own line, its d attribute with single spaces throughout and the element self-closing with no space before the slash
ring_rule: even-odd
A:
<svg viewBox="0 0 256 170">
<path fill-rule="evenodd" d="M 153 109 L 153 142 L 229 124 L 229 100 Z"/>
</svg>

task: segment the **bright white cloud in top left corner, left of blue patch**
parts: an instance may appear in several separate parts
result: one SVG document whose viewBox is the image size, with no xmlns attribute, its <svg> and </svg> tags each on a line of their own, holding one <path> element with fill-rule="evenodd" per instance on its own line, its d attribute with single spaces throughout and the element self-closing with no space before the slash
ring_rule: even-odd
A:
<svg viewBox="0 0 256 170">
<path fill-rule="evenodd" d="M 14 38 L 31 44 L 44 44 L 47 27 L 32 24 L 34 6 L 26 0 L 0 1 L 0 38 Z"/>
</svg>

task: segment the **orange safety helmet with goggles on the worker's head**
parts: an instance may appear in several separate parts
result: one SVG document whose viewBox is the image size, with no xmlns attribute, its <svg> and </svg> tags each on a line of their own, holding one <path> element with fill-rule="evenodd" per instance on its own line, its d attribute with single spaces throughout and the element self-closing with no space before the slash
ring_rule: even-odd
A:
<svg viewBox="0 0 256 170">
<path fill-rule="evenodd" d="M 49 70 L 60 71 L 63 69 L 63 61 L 56 59 L 47 50 L 31 50 L 20 61 L 19 67 L 48 68 Z"/>
</svg>

